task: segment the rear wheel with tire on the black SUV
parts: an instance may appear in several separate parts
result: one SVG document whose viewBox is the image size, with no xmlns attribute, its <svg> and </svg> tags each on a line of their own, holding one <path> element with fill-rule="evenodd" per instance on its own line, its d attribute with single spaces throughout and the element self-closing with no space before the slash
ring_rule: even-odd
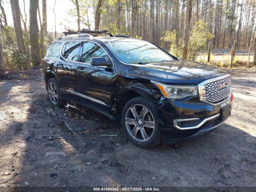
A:
<svg viewBox="0 0 256 192">
<path fill-rule="evenodd" d="M 48 80 L 47 93 L 50 102 L 54 106 L 62 107 L 66 105 L 67 101 L 62 98 L 60 94 L 60 86 L 58 85 L 55 78 L 50 78 Z"/>
</svg>

